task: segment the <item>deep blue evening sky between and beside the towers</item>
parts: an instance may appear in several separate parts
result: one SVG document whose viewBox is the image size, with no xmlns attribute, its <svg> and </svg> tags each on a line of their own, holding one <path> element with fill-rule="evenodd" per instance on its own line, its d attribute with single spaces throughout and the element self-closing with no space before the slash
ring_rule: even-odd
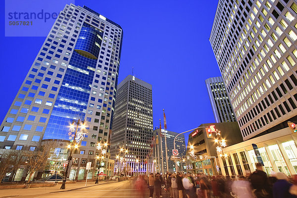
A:
<svg viewBox="0 0 297 198">
<path fill-rule="evenodd" d="M 164 108 L 168 130 L 181 133 L 215 122 L 204 81 L 221 75 L 208 40 L 217 2 L 76 0 L 75 4 L 121 25 L 118 82 L 132 74 L 134 66 L 136 77 L 152 85 L 153 126 L 158 127 L 161 118 L 163 128 Z M 4 37 L 3 0 L 0 9 L 2 121 L 45 37 Z"/>
</svg>

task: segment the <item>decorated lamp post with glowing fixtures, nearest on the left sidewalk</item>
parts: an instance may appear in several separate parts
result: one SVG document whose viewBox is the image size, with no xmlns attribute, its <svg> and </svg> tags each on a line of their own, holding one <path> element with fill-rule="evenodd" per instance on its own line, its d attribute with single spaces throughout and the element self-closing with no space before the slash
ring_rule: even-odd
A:
<svg viewBox="0 0 297 198">
<path fill-rule="evenodd" d="M 76 127 L 74 126 L 74 124 L 76 124 Z M 78 130 L 79 126 L 80 126 L 80 130 Z M 77 149 L 80 141 L 83 140 L 86 135 L 88 135 L 88 132 L 83 131 L 83 129 L 85 129 L 85 120 L 80 120 L 80 119 L 73 120 L 72 124 L 70 125 L 70 129 L 71 129 L 71 132 L 68 133 L 70 145 L 67 146 L 68 150 L 70 149 L 70 154 L 68 156 L 68 163 L 67 163 L 67 167 L 65 168 L 64 179 L 63 179 L 60 189 L 66 188 L 66 186 L 65 186 L 66 185 L 66 177 L 67 177 L 70 161 L 72 160 L 73 149 Z"/>
</svg>

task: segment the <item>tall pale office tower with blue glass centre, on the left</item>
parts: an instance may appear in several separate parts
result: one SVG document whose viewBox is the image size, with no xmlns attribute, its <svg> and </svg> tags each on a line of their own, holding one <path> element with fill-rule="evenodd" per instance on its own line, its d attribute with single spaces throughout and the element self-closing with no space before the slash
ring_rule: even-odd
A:
<svg viewBox="0 0 297 198">
<path fill-rule="evenodd" d="M 97 142 L 112 129 L 122 36 L 118 24 L 94 10 L 66 5 L 0 126 L 0 148 L 34 150 L 36 142 L 55 140 L 62 152 L 69 125 L 81 119 L 89 135 L 74 157 L 82 166 L 94 160 Z"/>
</svg>

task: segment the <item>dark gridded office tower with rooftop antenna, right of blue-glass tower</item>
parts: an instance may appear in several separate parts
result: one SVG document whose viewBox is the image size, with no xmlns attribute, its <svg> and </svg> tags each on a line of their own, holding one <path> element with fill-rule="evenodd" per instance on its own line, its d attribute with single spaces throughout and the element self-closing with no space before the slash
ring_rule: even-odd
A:
<svg viewBox="0 0 297 198">
<path fill-rule="evenodd" d="M 129 174 L 146 172 L 145 160 L 151 143 L 151 85 L 129 75 L 118 85 L 110 142 L 111 158 L 119 164 L 118 171 L 129 171 Z M 116 156 L 125 158 L 125 169 Z"/>
</svg>

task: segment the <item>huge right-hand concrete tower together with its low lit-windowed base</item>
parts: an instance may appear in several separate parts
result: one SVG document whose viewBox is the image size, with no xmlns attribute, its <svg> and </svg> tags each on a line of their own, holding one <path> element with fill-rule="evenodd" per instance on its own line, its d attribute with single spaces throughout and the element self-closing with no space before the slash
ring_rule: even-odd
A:
<svg viewBox="0 0 297 198">
<path fill-rule="evenodd" d="M 210 43 L 245 140 L 223 148 L 224 175 L 297 173 L 296 17 L 295 0 L 219 1 Z"/>
</svg>

